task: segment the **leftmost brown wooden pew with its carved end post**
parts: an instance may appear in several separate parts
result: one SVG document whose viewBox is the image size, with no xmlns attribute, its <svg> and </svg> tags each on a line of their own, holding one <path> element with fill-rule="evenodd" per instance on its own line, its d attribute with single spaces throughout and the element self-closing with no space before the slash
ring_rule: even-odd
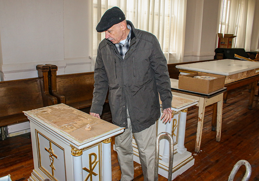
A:
<svg viewBox="0 0 259 181">
<path fill-rule="evenodd" d="M 49 94 L 49 67 L 37 66 L 37 78 L 27 78 L 0 82 L 0 127 L 2 139 L 4 126 L 28 121 L 22 111 L 57 104 L 57 99 Z"/>
</svg>

